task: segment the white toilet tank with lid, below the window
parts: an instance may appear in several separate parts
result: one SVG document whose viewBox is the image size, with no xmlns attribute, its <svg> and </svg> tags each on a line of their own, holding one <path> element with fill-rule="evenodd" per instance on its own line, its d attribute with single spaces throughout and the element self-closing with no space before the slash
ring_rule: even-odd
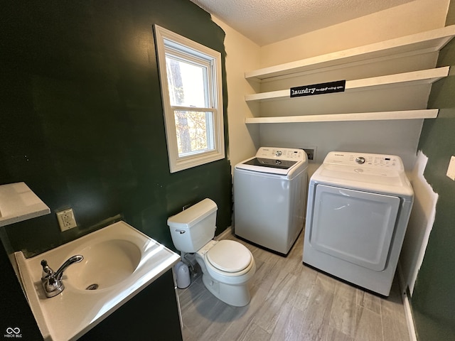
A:
<svg viewBox="0 0 455 341">
<path fill-rule="evenodd" d="M 174 247 L 193 253 L 215 237 L 217 205 L 204 199 L 186 210 L 168 218 L 168 227 Z"/>
</svg>

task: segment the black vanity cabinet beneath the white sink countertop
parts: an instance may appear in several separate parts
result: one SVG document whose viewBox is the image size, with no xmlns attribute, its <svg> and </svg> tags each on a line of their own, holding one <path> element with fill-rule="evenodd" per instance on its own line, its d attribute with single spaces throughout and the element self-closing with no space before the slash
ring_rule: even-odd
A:
<svg viewBox="0 0 455 341">
<path fill-rule="evenodd" d="M 183 340 L 176 294 L 170 269 L 79 340 Z"/>
</svg>

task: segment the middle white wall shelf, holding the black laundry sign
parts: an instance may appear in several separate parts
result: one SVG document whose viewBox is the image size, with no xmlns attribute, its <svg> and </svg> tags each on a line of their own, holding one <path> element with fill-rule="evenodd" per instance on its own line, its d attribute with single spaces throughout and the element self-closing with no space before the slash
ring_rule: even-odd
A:
<svg viewBox="0 0 455 341">
<path fill-rule="evenodd" d="M 376 87 L 396 87 L 398 85 L 432 84 L 437 80 L 440 80 L 441 78 L 444 78 L 447 75 L 449 75 L 449 68 L 450 68 L 449 66 L 446 66 L 429 70 L 405 72 L 396 75 L 370 77 L 361 80 L 347 80 L 345 92 L 353 90 L 368 90 L 368 88 Z M 267 100 L 289 98 L 290 98 L 289 89 L 245 95 L 245 101 L 247 102 L 262 102 Z"/>
</svg>

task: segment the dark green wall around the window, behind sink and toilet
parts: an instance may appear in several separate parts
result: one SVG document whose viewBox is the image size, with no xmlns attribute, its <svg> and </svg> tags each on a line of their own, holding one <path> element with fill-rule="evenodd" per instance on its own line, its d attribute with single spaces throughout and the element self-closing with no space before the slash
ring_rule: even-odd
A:
<svg viewBox="0 0 455 341">
<path fill-rule="evenodd" d="M 230 226 L 227 159 L 169 173 L 152 31 L 218 50 L 224 65 L 208 13 L 188 0 L 7 0 L 1 13 L 0 184 L 25 181 L 52 211 L 6 227 L 7 251 L 33 256 L 119 219 L 173 248 L 167 217 L 205 197 L 217 233 Z M 68 207 L 79 227 L 60 232 L 55 211 Z"/>
</svg>

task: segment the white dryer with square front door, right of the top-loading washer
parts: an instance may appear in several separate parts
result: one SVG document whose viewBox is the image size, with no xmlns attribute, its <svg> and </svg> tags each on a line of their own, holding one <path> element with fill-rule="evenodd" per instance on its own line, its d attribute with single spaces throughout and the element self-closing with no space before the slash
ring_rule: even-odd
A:
<svg viewBox="0 0 455 341">
<path fill-rule="evenodd" d="M 304 264 L 389 296 L 413 199 L 399 156 L 328 153 L 309 183 Z"/>
</svg>

